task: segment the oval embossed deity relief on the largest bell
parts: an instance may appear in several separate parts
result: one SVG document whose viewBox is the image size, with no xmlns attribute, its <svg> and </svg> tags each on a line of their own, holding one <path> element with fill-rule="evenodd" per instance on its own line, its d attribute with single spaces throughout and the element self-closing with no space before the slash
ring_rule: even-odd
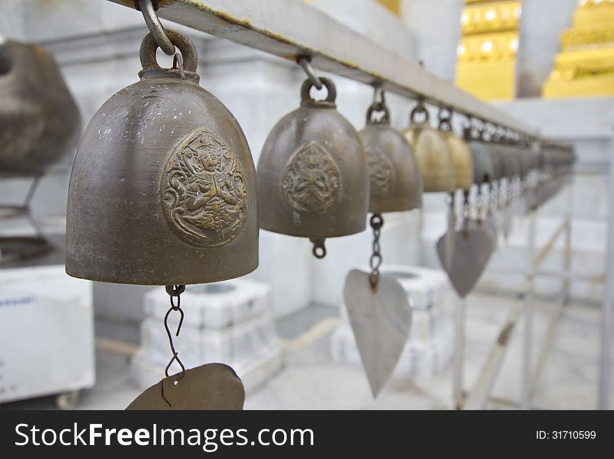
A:
<svg viewBox="0 0 614 459">
<path fill-rule="evenodd" d="M 218 247 L 241 233 L 247 216 L 245 171 L 237 156 L 201 127 L 170 156 L 160 185 L 173 233 L 197 247 Z"/>
</svg>

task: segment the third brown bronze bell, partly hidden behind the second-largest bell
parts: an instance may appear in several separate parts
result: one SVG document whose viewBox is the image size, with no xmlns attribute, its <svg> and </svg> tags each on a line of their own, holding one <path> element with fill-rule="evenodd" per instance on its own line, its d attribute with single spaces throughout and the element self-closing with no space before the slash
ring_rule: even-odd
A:
<svg viewBox="0 0 614 459">
<path fill-rule="evenodd" d="M 380 119 L 373 115 L 383 112 Z M 388 107 L 382 101 L 367 110 L 365 128 L 359 132 L 367 156 L 369 212 L 398 212 L 422 206 L 422 179 L 412 147 L 390 126 Z"/>
</svg>

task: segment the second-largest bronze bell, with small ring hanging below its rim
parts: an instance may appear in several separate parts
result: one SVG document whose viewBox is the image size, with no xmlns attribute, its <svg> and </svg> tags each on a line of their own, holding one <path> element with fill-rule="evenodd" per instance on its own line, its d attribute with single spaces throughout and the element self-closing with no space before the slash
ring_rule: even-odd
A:
<svg viewBox="0 0 614 459">
<path fill-rule="evenodd" d="M 369 203 L 361 140 L 336 110 L 334 83 L 320 80 L 327 98 L 311 99 L 313 83 L 305 80 L 301 107 L 274 126 L 257 167 L 260 227 L 310 238 L 318 258 L 324 239 L 365 229 Z"/>
</svg>

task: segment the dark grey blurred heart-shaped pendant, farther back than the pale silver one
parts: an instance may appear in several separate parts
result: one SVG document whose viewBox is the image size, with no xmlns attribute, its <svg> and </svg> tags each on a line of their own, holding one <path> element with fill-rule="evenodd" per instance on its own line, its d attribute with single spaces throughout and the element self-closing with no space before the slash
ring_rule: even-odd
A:
<svg viewBox="0 0 614 459">
<path fill-rule="evenodd" d="M 445 263 L 446 250 L 446 240 L 442 237 L 437 241 L 437 254 L 458 296 L 465 298 L 491 259 L 495 238 L 486 221 L 467 219 L 463 221 L 463 227 L 454 233 L 454 254 L 449 266 Z"/>
</svg>

